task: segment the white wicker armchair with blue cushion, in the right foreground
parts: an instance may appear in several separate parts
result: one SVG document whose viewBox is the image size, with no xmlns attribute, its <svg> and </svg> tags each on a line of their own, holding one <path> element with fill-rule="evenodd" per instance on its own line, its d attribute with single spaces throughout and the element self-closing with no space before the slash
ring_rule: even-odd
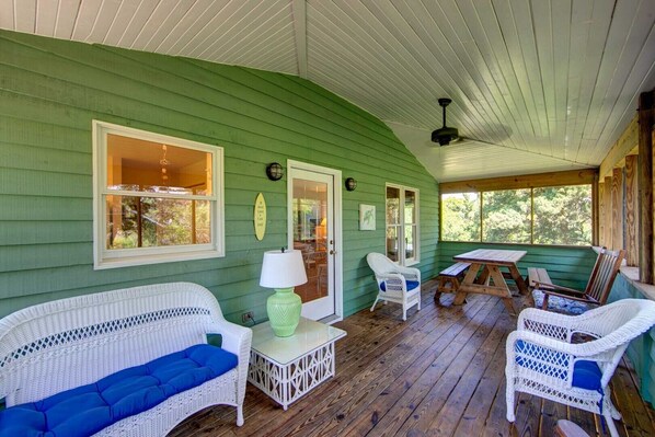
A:
<svg viewBox="0 0 655 437">
<path fill-rule="evenodd" d="M 618 436 L 612 418 L 621 415 L 609 380 L 630 341 L 654 324 L 655 302 L 644 299 L 623 299 L 581 315 L 521 311 L 507 337 L 507 421 L 516 418 L 515 392 L 520 391 L 600 414 Z M 572 343 L 576 334 L 594 340 Z"/>
</svg>

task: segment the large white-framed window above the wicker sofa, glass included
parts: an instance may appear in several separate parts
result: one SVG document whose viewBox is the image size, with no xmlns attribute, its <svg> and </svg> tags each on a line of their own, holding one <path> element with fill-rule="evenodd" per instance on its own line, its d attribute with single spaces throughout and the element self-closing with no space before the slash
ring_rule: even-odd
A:
<svg viewBox="0 0 655 437">
<path fill-rule="evenodd" d="M 94 268 L 225 256 L 223 150 L 93 120 Z"/>
</svg>

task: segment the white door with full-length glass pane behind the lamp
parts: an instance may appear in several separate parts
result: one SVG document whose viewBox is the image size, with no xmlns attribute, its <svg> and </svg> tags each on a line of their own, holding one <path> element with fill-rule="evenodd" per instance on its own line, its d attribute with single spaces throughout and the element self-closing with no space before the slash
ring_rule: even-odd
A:
<svg viewBox="0 0 655 437">
<path fill-rule="evenodd" d="M 308 278 L 296 294 L 302 315 L 319 320 L 334 314 L 333 176 L 294 170 L 291 185 L 294 249 L 302 252 Z"/>
</svg>

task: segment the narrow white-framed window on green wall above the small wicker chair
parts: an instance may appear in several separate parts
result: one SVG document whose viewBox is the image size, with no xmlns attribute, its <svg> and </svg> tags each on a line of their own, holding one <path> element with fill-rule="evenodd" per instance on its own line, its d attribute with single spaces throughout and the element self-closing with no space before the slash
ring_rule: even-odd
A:
<svg viewBox="0 0 655 437">
<path fill-rule="evenodd" d="M 421 261 L 418 189 L 387 184 L 387 256 L 401 265 Z"/>
</svg>

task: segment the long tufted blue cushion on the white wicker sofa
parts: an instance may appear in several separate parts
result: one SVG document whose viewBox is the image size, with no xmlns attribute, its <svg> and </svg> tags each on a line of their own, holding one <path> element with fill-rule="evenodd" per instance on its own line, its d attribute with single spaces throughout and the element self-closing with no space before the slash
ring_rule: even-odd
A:
<svg viewBox="0 0 655 437">
<path fill-rule="evenodd" d="M 0 411 L 0 437 L 90 436 L 237 367 L 234 354 L 200 344 L 38 402 Z"/>
</svg>

